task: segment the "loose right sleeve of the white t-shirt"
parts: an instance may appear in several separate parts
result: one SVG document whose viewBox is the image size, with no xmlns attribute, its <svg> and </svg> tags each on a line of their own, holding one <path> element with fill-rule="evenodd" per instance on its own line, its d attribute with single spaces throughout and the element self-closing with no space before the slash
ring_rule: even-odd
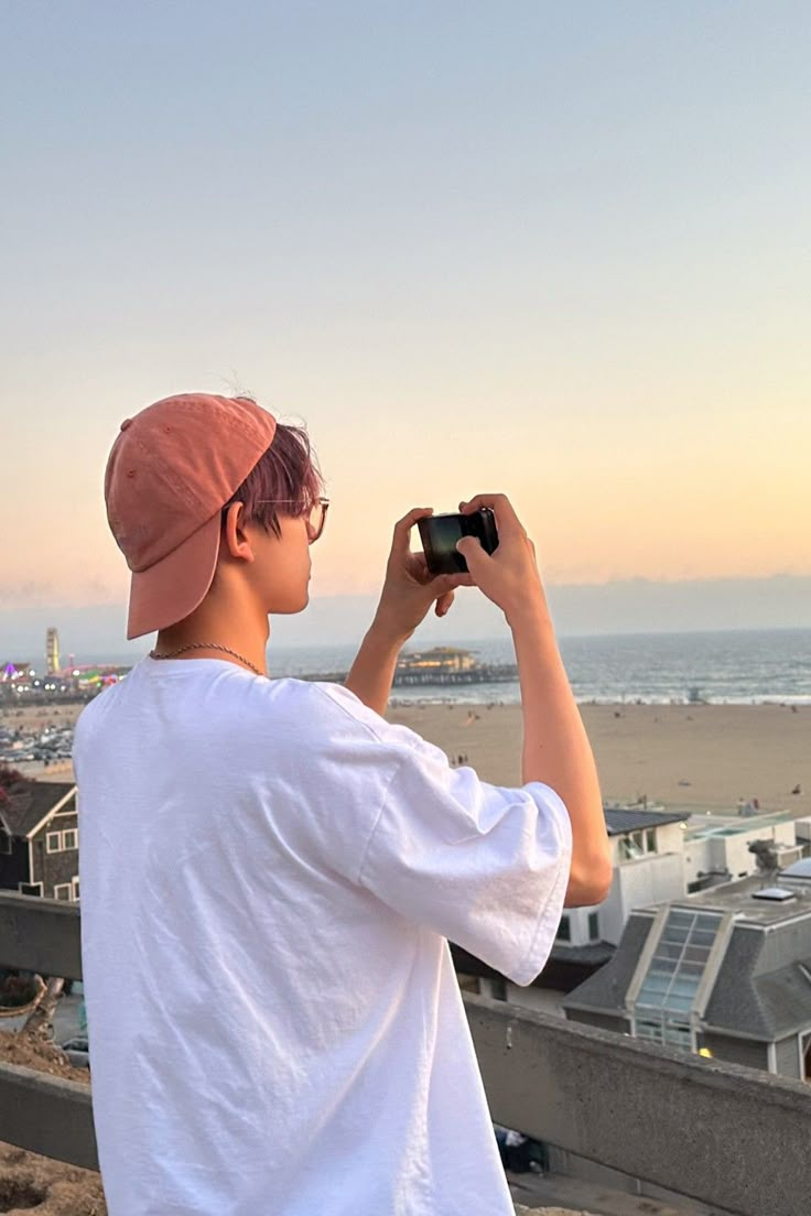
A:
<svg viewBox="0 0 811 1216">
<path fill-rule="evenodd" d="M 395 742 L 396 741 L 396 742 Z M 541 782 L 491 786 L 390 727 L 400 753 L 359 869 L 385 905 L 526 985 L 548 958 L 571 863 L 571 826 Z"/>
</svg>

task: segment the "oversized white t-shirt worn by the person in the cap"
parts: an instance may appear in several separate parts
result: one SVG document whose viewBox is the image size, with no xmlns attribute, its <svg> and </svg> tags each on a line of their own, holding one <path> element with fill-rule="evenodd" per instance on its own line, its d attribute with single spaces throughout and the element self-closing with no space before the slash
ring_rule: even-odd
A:
<svg viewBox="0 0 811 1216">
<path fill-rule="evenodd" d="M 142 659 L 74 765 L 109 1216 L 512 1216 L 447 939 L 537 975 L 561 798 L 224 659 Z"/>
</svg>

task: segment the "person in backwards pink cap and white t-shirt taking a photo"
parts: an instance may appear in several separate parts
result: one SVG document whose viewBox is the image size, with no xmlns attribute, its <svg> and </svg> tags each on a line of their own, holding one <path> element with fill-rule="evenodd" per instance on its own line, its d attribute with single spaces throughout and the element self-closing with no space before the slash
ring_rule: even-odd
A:
<svg viewBox="0 0 811 1216">
<path fill-rule="evenodd" d="M 345 685 L 270 679 L 269 617 L 308 606 L 322 491 L 306 430 L 250 398 L 167 398 L 109 452 L 126 637 L 157 632 L 73 747 L 109 1216 L 512 1216 L 449 942 L 530 984 L 562 910 L 610 884 L 591 747 L 503 495 L 460 505 L 500 534 L 492 556 L 458 542 L 468 574 L 411 552 L 429 508 L 394 525 Z M 404 642 L 460 587 L 513 636 L 517 788 L 383 716 Z"/>
</svg>

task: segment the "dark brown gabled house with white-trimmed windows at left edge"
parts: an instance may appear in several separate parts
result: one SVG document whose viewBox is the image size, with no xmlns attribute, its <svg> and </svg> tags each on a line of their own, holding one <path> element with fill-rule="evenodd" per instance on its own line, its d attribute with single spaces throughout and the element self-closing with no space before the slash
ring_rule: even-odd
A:
<svg viewBox="0 0 811 1216">
<path fill-rule="evenodd" d="M 73 782 L 0 786 L 0 889 L 79 899 L 79 821 Z"/>
</svg>

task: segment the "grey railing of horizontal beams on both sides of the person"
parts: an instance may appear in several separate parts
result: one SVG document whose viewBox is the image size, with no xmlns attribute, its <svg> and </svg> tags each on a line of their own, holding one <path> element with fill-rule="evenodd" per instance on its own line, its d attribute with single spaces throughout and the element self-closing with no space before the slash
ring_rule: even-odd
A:
<svg viewBox="0 0 811 1216">
<path fill-rule="evenodd" d="M 0 963 L 80 979 L 79 907 L 0 894 Z M 733 1216 L 807 1216 L 811 1087 L 464 1003 L 497 1122 Z M 97 1169 L 88 1087 L 0 1065 L 0 1141 Z"/>
</svg>

